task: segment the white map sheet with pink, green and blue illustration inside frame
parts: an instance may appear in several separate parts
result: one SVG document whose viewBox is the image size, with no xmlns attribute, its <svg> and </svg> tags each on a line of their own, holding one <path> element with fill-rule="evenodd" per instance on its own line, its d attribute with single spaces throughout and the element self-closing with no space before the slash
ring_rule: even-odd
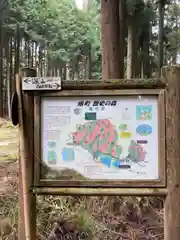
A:
<svg viewBox="0 0 180 240">
<path fill-rule="evenodd" d="M 41 106 L 42 160 L 51 169 L 88 179 L 158 179 L 156 97 L 43 98 Z"/>
</svg>

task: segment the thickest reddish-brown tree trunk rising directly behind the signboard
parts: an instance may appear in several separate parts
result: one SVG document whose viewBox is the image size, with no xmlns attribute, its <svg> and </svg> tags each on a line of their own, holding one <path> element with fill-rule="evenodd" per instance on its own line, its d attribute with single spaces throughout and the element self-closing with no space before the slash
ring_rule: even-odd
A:
<svg viewBox="0 0 180 240">
<path fill-rule="evenodd" d="M 102 78 L 120 78 L 119 0 L 101 0 Z"/>
</svg>

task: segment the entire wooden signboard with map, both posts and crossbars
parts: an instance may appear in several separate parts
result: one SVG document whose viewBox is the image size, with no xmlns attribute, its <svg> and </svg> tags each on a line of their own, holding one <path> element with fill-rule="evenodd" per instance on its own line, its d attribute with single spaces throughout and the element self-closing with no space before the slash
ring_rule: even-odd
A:
<svg viewBox="0 0 180 240">
<path fill-rule="evenodd" d="M 22 90 L 22 77 L 35 79 L 36 71 L 20 70 L 12 102 L 20 135 L 18 239 L 36 239 L 36 195 L 57 194 L 163 196 L 164 239 L 179 240 L 180 67 L 162 73 L 161 80 Z"/>
</svg>

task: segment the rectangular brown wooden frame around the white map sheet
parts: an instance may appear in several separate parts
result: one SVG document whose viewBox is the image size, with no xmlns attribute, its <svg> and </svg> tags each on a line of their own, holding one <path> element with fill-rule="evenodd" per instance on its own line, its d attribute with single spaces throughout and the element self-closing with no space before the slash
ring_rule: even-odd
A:
<svg viewBox="0 0 180 240">
<path fill-rule="evenodd" d="M 118 84 L 111 84 L 110 89 L 103 89 L 99 84 L 91 85 L 87 90 L 87 84 L 79 83 L 62 91 L 47 92 L 39 91 L 34 96 L 34 186 L 59 187 L 59 188 L 165 188 L 166 187 L 166 156 L 165 156 L 165 91 L 162 88 L 148 89 L 149 85 L 144 82 L 144 89 L 133 89 L 126 82 L 126 89 L 117 89 Z M 85 88 L 86 86 L 86 88 Z M 110 84 L 109 84 L 110 86 Z M 140 85 L 139 85 L 140 86 Z M 142 87 L 142 86 L 141 86 Z M 159 129 L 159 179 L 158 180 L 50 180 L 41 179 L 41 99 L 43 97 L 82 97 L 82 96 L 157 96 L 158 98 L 158 129 Z"/>
</svg>

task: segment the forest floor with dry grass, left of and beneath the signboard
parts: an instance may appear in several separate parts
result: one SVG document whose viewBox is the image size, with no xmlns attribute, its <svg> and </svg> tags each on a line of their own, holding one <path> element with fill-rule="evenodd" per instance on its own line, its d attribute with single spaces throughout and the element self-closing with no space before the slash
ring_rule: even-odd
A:
<svg viewBox="0 0 180 240">
<path fill-rule="evenodd" d="M 17 238 L 18 128 L 0 119 L 0 240 Z M 163 200 L 138 197 L 37 198 L 40 240 L 162 240 Z"/>
</svg>

